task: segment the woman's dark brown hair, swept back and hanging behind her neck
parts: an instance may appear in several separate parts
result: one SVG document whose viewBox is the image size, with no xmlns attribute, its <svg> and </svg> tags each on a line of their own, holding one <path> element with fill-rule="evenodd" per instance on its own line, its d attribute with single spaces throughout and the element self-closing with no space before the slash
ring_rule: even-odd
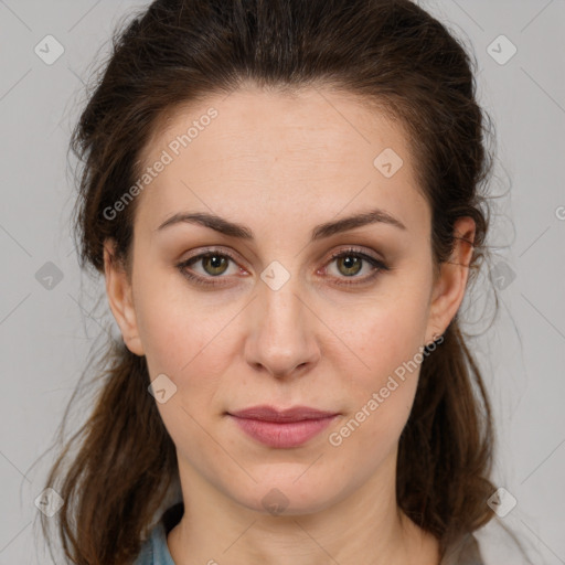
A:
<svg viewBox="0 0 565 565">
<path fill-rule="evenodd" d="M 415 3 L 158 0 L 116 32 L 113 47 L 71 145 L 81 160 L 74 227 L 82 268 L 104 274 L 107 238 L 116 243 L 114 260 L 129 264 L 136 201 L 117 220 L 104 211 L 135 183 L 139 156 L 163 116 L 250 81 L 289 92 L 341 89 L 396 119 L 433 212 L 435 266 L 449 260 L 456 220 L 470 216 L 475 278 L 488 255 L 481 189 L 492 168 L 484 143 L 490 120 L 476 100 L 470 56 Z M 146 359 L 116 340 L 100 353 L 94 411 L 47 479 L 64 504 L 54 519 L 41 516 L 47 540 L 56 520 L 66 557 L 88 565 L 131 562 L 178 489 L 174 445 L 148 393 Z M 493 516 L 492 456 L 489 399 L 456 316 L 422 363 L 397 467 L 398 505 L 439 539 L 443 555 Z"/>
</svg>

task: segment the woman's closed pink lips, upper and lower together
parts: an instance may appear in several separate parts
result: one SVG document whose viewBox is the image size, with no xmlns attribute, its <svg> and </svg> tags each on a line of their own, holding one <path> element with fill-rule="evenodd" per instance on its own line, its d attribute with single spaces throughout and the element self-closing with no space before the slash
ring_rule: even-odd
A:
<svg viewBox="0 0 565 565">
<path fill-rule="evenodd" d="M 306 444 L 339 416 L 335 412 L 309 406 L 294 406 L 282 411 L 273 406 L 253 406 L 228 415 L 253 439 L 279 449 Z"/>
</svg>

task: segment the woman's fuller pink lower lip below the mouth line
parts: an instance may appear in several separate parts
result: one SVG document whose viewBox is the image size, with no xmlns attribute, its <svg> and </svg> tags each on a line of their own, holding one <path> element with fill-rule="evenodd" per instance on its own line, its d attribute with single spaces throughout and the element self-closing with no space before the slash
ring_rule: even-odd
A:
<svg viewBox="0 0 565 565">
<path fill-rule="evenodd" d="M 263 422 L 232 416 L 237 425 L 252 438 L 276 448 L 291 448 L 306 444 L 326 429 L 337 416 L 301 422 Z"/>
</svg>

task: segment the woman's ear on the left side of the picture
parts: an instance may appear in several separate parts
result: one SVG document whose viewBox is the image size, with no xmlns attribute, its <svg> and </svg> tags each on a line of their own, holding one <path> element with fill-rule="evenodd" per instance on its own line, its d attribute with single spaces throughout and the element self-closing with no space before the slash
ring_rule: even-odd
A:
<svg viewBox="0 0 565 565">
<path fill-rule="evenodd" d="M 115 242 L 104 243 L 104 273 L 106 294 L 111 313 L 121 330 L 124 343 L 136 355 L 143 355 L 143 347 L 139 339 L 136 310 L 131 292 L 131 282 L 121 262 L 116 258 Z"/>
</svg>

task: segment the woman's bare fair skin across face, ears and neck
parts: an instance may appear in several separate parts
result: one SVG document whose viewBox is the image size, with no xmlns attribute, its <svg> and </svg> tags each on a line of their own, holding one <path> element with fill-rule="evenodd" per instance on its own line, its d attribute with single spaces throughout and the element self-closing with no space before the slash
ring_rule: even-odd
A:
<svg viewBox="0 0 565 565">
<path fill-rule="evenodd" d="M 172 114 L 141 162 L 153 163 L 211 106 L 218 117 L 137 196 L 130 278 L 110 262 L 111 242 L 105 246 L 108 300 L 127 347 L 146 355 L 151 380 L 164 373 L 177 386 L 157 404 L 177 446 L 185 508 L 168 536 L 171 555 L 178 565 L 437 565 L 436 540 L 395 499 L 419 364 L 339 447 L 328 437 L 445 331 L 472 247 L 459 241 L 434 277 L 431 213 L 405 134 L 344 93 L 247 86 L 211 96 Z M 385 148 L 404 160 L 391 178 L 373 166 Z M 310 242 L 316 225 L 376 206 L 406 230 L 375 223 Z M 255 238 L 190 223 L 157 230 L 179 212 L 213 212 Z M 473 241 L 475 223 L 460 218 L 456 231 Z M 330 260 L 350 245 L 390 270 L 369 280 L 370 263 L 355 270 Z M 207 246 L 236 262 L 201 259 L 192 269 L 224 286 L 194 285 L 177 267 Z M 290 277 L 278 290 L 260 278 L 273 260 Z M 275 449 L 225 414 L 257 404 L 340 416 L 307 444 Z M 262 503 L 274 488 L 287 499 L 279 515 Z"/>
</svg>

